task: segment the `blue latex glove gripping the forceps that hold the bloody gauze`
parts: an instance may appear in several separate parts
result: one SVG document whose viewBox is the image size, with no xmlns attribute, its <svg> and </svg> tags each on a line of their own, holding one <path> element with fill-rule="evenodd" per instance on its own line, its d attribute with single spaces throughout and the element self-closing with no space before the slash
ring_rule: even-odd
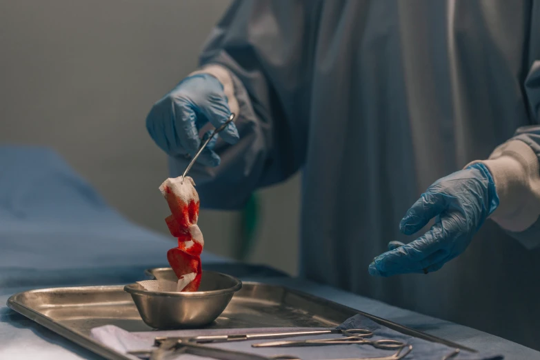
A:
<svg viewBox="0 0 540 360">
<path fill-rule="evenodd" d="M 208 74 L 196 74 L 183 79 L 176 88 L 157 101 L 146 118 L 146 128 L 157 146 L 173 157 L 193 156 L 199 146 L 199 130 L 208 122 L 217 128 L 230 116 L 223 85 Z M 212 133 L 209 130 L 203 139 Z M 239 134 L 234 123 L 219 133 L 224 141 L 236 143 Z M 218 166 L 220 159 L 214 152 L 217 136 L 203 150 L 197 162 Z"/>
</svg>

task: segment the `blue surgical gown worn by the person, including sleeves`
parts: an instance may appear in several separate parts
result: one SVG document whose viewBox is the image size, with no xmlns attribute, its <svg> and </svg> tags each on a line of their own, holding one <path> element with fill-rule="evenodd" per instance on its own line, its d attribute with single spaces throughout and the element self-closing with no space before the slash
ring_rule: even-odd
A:
<svg viewBox="0 0 540 360">
<path fill-rule="evenodd" d="M 540 153 L 539 1 L 236 1 L 200 59 L 231 72 L 241 137 L 192 170 L 201 204 L 300 170 L 303 277 L 540 348 L 537 224 L 487 221 L 438 272 L 368 274 L 432 182 L 514 136 Z"/>
</svg>

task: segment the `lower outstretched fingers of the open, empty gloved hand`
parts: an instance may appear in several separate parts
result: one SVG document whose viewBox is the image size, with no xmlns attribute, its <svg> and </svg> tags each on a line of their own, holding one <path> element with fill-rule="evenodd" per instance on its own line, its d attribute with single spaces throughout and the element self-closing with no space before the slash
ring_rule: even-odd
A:
<svg viewBox="0 0 540 360">
<path fill-rule="evenodd" d="M 384 252 L 370 264 L 370 274 L 389 277 L 396 274 L 424 272 L 423 269 L 448 257 L 448 251 L 443 248 L 443 242 L 440 241 L 443 232 L 441 223 L 437 223 L 418 239 Z"/>
</svg>

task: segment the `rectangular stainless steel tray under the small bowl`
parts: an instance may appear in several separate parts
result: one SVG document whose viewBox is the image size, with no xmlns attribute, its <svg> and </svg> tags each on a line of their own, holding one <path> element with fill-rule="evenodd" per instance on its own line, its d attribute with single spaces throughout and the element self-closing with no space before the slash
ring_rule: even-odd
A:
<svg viewBox="0 0 540 360">
<path fill-rule="evenodd" d="M 147 272 L 152 273 L 152 270 Z M 92 328 L 115 325 L 132 332 L 154 330 L 143 323 L 130 294 L 123 291 L 123 286 L 30 290 L 14 294 L 8 299 L 8 306 L 110 360 L 126 360 L 128 357 L 92 340 Z M 243 283 L 242 289 L 234 295 L 226 310 L 207 328 L 334 327 L 354 314 L 363 314 L 404 334 L 475 351 L 339 303 L 282 286 L 254 282 Z"/>
</svg>

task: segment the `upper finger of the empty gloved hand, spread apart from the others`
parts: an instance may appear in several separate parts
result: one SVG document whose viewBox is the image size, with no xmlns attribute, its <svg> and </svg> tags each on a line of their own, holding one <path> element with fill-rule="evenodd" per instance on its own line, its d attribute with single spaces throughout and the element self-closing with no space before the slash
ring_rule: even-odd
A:
<svg viewBox="0 0 540 360">
<path fill-rule="evenodd" d="M 406 235 L 419 232 L 428 222 L 443 212 L 448 206 L 448 195 L 434 192 L 430 188 L 424 192 L 407 211 L 399 223 L 399 230 Z"/>
</svg>

